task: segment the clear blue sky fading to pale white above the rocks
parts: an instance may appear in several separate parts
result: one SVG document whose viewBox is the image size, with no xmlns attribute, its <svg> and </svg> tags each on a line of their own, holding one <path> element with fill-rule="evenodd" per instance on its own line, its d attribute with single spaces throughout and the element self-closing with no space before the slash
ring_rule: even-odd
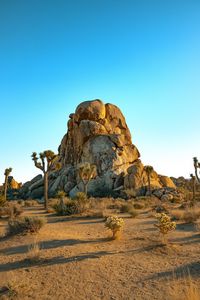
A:
<svg viewBox="0 0 200 300">
<path fill-rule="evenodd" d="M 118 105 L 145 164 L 200 159 L 199 0 L 0 0 L 0 183 L 38 174 L 80 102 Z"/>
</svg>

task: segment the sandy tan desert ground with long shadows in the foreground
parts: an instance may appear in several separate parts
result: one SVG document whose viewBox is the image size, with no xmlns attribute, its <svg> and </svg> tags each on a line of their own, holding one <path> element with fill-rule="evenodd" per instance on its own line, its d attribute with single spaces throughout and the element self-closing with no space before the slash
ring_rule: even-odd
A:
<svg viewBox="0 0 200 300">
<path fill-rule="evenodd" d="M 25 214 L 45 215 L 40 207 Z M 46 216 L 48 223 L 37 236 L 0 240 L 0 287 L 15 286 L 14 299 L 164 300 L 175 293 L 183 300 L 188 270 L 200 286 L 200 234 L 193 225 L 179 224 L 163 247 L 146 212 L 135 219 L 122 214 L 125 228 L 115 241 L 103 219 Z M 5 224 L 0 221 L 1 231 Z M 40 260 L 30 262 L 34 240 L 41 247 Z"/>
</svg>

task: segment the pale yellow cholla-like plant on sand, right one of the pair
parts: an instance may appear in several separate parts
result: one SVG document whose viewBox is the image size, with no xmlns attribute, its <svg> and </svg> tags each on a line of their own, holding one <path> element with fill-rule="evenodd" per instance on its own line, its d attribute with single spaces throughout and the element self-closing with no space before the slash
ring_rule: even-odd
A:
<svg viewBox="0 0 200 300">
<path fill-rule="evenodd" d="M 167 243 L 166 235 L 176 229 L 176 223 L 171 221 L 171 218 L 165 213 L 158 213 L 155 215 L 158 224 L 154 224 L 162 234 L 164 244 Z"/>
</svg>

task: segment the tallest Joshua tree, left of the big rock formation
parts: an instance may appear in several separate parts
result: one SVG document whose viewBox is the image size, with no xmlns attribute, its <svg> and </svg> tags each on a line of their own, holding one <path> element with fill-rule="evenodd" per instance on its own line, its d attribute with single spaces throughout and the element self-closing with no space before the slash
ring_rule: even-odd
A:
<svg viewBox="0 0 200 300">
<path fill-rule="evenodd" d="M 48 175 L 50 171 L 59 170 L 61 164 L 58 161 L 58 155 L 51 150 L 40 153 L 39 157 L 36 152 L 33 152 L 31 157 L 36 168 L 40 169 L 44 174 L 44 201 L 45 209 L 48 209 Z"/>
</svg>

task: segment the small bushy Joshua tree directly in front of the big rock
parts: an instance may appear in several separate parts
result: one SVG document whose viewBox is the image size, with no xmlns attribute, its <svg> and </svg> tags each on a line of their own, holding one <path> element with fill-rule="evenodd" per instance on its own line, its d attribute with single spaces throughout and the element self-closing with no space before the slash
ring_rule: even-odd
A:
<svg viewBox="0 0 200 300">
<path fill-rule="evenodd" d="M 88 183 L 97 176 L 96 165 L 90 163 L 80 163 L 77 166 L 78 174 L 84 185 L 84 193 L 87 195 Z"/>
</svg>

